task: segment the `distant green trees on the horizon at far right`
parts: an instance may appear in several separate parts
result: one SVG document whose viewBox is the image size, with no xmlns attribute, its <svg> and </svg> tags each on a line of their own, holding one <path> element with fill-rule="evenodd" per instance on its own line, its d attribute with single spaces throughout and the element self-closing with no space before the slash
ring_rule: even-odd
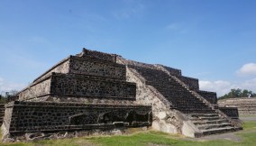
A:
<svg viewBox="0 0 256 146">
<path fill-rule="evenodd" d="M 240 98 L 240 97 L 256 97 L 256 93 L 253 93 L 250 90 L 247 89 L 240 89 L 240 88 L 233 88 L 231 91 L 224 96 L 220 96 L 218 100 L 220 99 L 226 99 L 226 98 Z"/>
</svg>

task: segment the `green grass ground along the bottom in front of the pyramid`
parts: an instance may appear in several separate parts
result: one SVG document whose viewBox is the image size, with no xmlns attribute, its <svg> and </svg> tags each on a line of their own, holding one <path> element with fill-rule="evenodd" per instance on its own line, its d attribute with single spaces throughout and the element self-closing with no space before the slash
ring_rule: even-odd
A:
<svg viewBox="0 0 256 146">
<path fill-rule="evenodd" d="M 164 132 L 133 132 L 129 135 L 119 136 L 94 136 L 81 137 L 65 140 L 35 141 L 35 142 L 14 142 L 2 145 L 9 146 L 45 146 L 45 145 L 70 145 L 70 146 L 256 146 L 256 122 L 243 123 L 243 130 L 236 132 L 242 141 L 213 140 L 213 141 L 192 141 L 182 135 L 173 135 Z"/>
</svg>

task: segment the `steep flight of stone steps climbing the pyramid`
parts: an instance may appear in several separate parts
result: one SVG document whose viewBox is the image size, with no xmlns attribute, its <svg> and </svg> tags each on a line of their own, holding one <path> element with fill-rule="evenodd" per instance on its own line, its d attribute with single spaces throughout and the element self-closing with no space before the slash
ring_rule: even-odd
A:
<svg viewBox="0 0 256 146">
<path fill-rule="evenodd" d="M 178 111 L 187 114 L 203 135 L 233 132 L 239 130 L 224 114 L 215 110 L 214 105 L 190 90 L 178 77 L 165 70 L 129 66 L 145 78 L 146 85 L 156 88 Z"/>
</svg>

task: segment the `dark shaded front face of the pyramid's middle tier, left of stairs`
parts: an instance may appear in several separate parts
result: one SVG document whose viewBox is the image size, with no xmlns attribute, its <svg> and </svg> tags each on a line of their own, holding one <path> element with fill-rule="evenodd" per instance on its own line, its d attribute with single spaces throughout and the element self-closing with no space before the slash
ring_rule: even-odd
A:
<svg viewBox="0 0 256 146">
<path fill-rule="evenodd" d="M 101 96 L 135 100 L 136 84 L 112 78 L 55 74 L 50 91 L 59 96 Z"/>
</svg>

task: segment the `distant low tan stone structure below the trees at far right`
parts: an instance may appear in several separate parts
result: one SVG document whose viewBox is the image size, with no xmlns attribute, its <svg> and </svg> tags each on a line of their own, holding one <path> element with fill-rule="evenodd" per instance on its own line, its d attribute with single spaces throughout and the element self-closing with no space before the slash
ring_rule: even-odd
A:
<svg viewBox="0 0 256 146">
<path fill-rule="evenodd" d="M 239 115 L 256 115 L 256 98 L 229 98 L 218 101 L 224 107 L 237 107 Z"/>
</svg>

